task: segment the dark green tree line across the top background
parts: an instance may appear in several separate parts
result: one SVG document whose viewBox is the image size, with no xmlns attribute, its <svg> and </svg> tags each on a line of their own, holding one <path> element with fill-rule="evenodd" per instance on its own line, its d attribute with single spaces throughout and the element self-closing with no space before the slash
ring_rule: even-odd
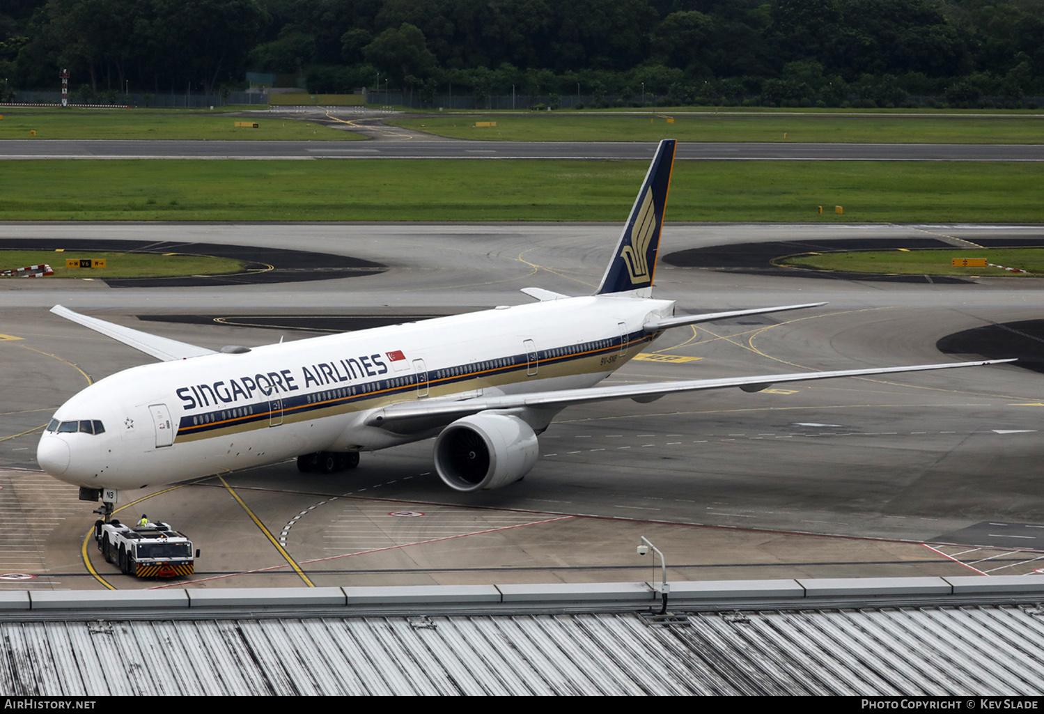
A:
<svg viewBox="0 0 1044 714">
<path fill-rule="evenodd" d="M 1044 0 L 5 0 L 4 91 L 447 89 L 666 104 L 1021 105 Z"/>
</svg>

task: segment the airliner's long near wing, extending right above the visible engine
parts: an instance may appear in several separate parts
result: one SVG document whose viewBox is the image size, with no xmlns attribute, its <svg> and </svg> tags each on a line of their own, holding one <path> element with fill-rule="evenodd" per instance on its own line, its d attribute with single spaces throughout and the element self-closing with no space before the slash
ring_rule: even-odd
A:
<svg viewBox="0 0 1044 714">
<path fill-rule="evenodd" d="M 927 372 L 930 370 L 952 370 L 984 364 L 1014 362 L 1014 359 L 992 359 L 978 362 L 949 362 L 945 364 L 915 364 L 898 367 L 873 367 L 870 370 L 841 370 L 838 372 L 802 372 L 790 375 L 759 375 L 756 377 L 723 377 L 719 379 L 695 379 L 683 382 L 654 382 L 651 384 L 619 384 L 585 389 L 560 389 L 521 395 L 505 395 L 462 399 L 458 401 L 401 402 L 377 409 L 366 418 L 367 426 L 381 427 L 397 433 L 417 433 L 449 424 L 461 416 L 489 409 L 550 409 L 556 411 L 573 404 L 590 404 L 612 399 L 633 399 L 636 402 L 652 402 L 664 395 L 682 391 L 702 391 L 739 387 L 743 391 L 761 391 L 773 384 L 782 382 L 807 382 L 817 379 L 838 377 L 865 377 L 869 375 L 889 375 L 900 372 Z"/>
</svg>

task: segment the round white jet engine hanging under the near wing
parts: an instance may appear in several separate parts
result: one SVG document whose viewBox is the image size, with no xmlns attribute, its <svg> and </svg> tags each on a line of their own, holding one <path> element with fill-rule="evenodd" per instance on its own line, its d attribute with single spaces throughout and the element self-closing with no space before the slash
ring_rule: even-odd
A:
<svg viewBox="0 0 1044 714">
<path fill-rule="evenodd" d="M 537 434 L 518 416 L 478 413 L 443 429 L 435 439 L 435 470 L 456 491 L 500 489 L 537 463 Z"/>
</svg>

